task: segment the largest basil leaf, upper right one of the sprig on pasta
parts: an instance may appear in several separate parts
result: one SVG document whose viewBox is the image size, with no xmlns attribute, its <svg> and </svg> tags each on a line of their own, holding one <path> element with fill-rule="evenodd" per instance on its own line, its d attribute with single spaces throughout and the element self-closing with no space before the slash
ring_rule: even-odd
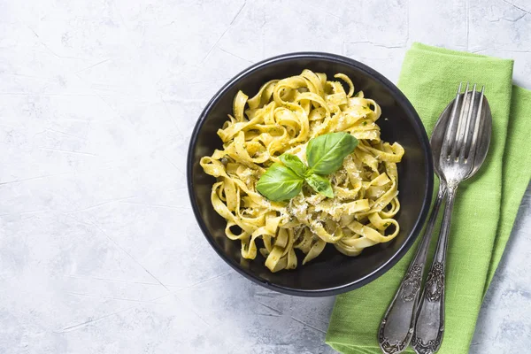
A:
<svg viewBox="0 0 531 354">
<path fill-rule="evenodd" d="M 349 133 L 328 133 L 308 142 L 306 158 L 311 169 L 308 173 L 335 173 L 346 158 L 358 146 L 358 139 Z"/>
</svg>

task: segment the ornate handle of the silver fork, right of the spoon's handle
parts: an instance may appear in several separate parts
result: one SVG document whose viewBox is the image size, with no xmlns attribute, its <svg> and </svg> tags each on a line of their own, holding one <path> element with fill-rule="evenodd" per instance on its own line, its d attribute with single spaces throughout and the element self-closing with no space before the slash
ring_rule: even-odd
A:
<svg viewBox="0 0 531 354">
<path fill-rule="evenodd" d="M 450 235 L 450 220 L 457 185 L 448 188 L 448 201 L 444 207 L 443 225 L 437 242 L 434 261 L 427 273 L 419 312 L 412 336 L 412 347 L 419 354 L 435 353 L 441 347 L 444 333 L 444 270 L 446 248 Z"/>
</svg>

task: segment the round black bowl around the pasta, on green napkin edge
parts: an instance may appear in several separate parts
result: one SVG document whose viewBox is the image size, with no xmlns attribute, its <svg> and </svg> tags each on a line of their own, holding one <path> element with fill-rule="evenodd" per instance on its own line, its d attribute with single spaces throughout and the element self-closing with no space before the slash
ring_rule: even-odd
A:
<svg viewBox="0 0 531 354">
<path fill-rule="evenodd" d="M 296 270 L 271 273 L 258 253 L 254 260 L 244 259 L 241 244 L 225 235 L 225 219 L 214 211 L 211 189 L 215 179 L 203 172 L 199 159 L 221 147 L 216 134 L 232 113 L 233 98 L 242 89 L 254 96 L 266 81 L 299 74 L 303 69 L 316 73 L 345 73 L 356 90 L 381 105 L 378 120 L 381 138 L 399 142 L 405 155 L 398 164 L 401 210 L 396 219 L 400 233 L 387 243 L 364 250 L 358 257 L 343 256 L 327 245 L 318 258 Z M 384 119 L 389 118 L 389 119 Z M 291 53 L 266 59 L 250 66 L 219 90 L 206 105 L 197 121 L 189 145 L 187 176 L 189 196 L 204 236 L 229 266 L 251 281 L 268 289 L 296 296 L 332 296 L 357 289 L 387 272 L 412 246 L 426 219 L 433 191 L 433 162 L 426 131 L 419 115 L 396 86 L 370 67 L 350 58 L 327 53 Z"/>
</svg>

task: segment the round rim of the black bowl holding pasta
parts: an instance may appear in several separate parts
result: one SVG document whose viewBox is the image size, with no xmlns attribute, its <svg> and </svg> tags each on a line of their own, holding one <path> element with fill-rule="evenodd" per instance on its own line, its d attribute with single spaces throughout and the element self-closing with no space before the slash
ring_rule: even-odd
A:
<svg viewBox="0 0 531 354">
<path fill-rule="evenodd" d="M 406 112 L 406 115 L 408 115 L 409 117 L 412 117 L 412 120 L 415 123 L 413 125 L 415 135 L 419 136 L 419 140 L 422 145 L 422 148 L 426 152 L 424 154 L 424 161 L 426 165 L 424 173 L 427 174 L 427 184 L 423 191 L 426 197 L 423 200 L 423 204 L 421 207 L 419 217 L 415 221 L 415 224 L 412 227 L 412 230 L 410 231 L 410 233 L 406 235 L 405 242 L 402 244 L 402 246 L 396 251 L 396 253 L 391 258 L 389 258 L 383 265 L 374 269 L 373 272 L 366 274 L 364 277 L 358 279 L 357 281 L 350 281 L 342 285 L 324 288 L 324 289 L 296 289 L 296 288 L 290 288 L 290 287 L 285 287 L 285 286 L 281 286 L 278 284 L 274 284 L 270 281 L 266 281 L 264 279 L 258 278 L 258 276 L 256 276 L 253 273 L 246 272 L 233 259 L 228 258 L 222 250 L 219 250 L 217 243 L 213 241 L 213 236 L 208 230 L 208 227 L 206 227 L 206 224 L 204 223 L 204 220 L 201 216 L 201 212 L 199 211 L 199 206 L 196 202 L 195 190 L 194 190 L 194 186 L 192 182 L 194 163 L 195 163 L 194 150 L 196 149 L 197 136 L 198 136 L 199 130 L 204 125 L 204 121 L 206 117 L 208 116 L 208 113 L 212 110 L 213 105 L 216 104 L 216 102 L 219 100 L 221 96 L 225 95 L 228 89 L 232 88 L 242 78 L 268 65 L 273 65 L 273 64 L 276 64 L 282 61 L 287 61 L 287 60 L 292 60 L 292 59 L 314 59 L 314 60 L 317 59 L 317 60 L 325 60 L 328 62 L 340 63 L 343 65 L 350 65 L 358 69 L 359 71 L 365 72 L 367 75 L 371 76 L 374 80 L 379 81 L 381 85 L 389 89 L 392 96 L 396 99 L 396 102 L 404 108 L 404 112 Z M 407 99 L 407 97 L 404 95 L 404 93 L 402 93 L 402 91 L 398 89 L 393 82 L 389 81 L 381 73 L 378 73 L 373 68 L 363 63 L 360 63 L 355 59 L 343 57 L 338 54 L 319 52 L 319 51 L 292 52 L 292 53 L 281 54 L 281 55 L 278 55 L 272 58 L 266 58 L 265 60 L 262 60 L 256 64 L 250 65 L 249 67 L 244 69 L 242 72 L 236 74 L 232 79 L 227 81 L 227 83 L 223 85 L 223 87 L 221 87 L 221 89 L 219 89 L 218 92 L 216 92 L 214 96 L 212 96 L 211 100 L 208 102 L 208 104 L 205 105 L 203 112 L 201 112 L 201 114 L 199 115 L 199 118 L 197 119 L 196 126 L 194 127 L 194 130 L 192 131 L 192 135 L 189 141 L 186 175 L 187 175 L 187 184 L 188 184 L 190 203 L 192 205 L 192 209 L 194 211 L 196 221 L 201 231 L 203 232 L 204 237 L 211 244 L 212 248 L 216 251 L 216 253 L 218 253 L 219 257 L 222 258 L 227 263 L 227 265 L 235 269 L 237 273 L 242 274 L 245 278 L 249 279 L 250 281 L 254 281 L 258 283 L 259 285 L 266 287 L 267 289 L 272 289 L 274 291 L 278 291 L 283 294 L 288 294 L 292 296 L 312 296 L 312 297 L 335 296 L 335 295 L 339 295 L 339 294 L 342 294 L 344 292 L 347 292 L 353 289 L 358 289 L 366 285 L 367 283 L 376 280 L 382 274 L 388 272 L 391 267 L 395 266 L 396 263 L 404 257 L 405 253 L 412 247 L 412 244 L 415 242 L 415 240 L 419 236 L 420 231 L 422 230 L 422 227 L 424 226 L 424 223 L 427 219 L 427 212 L 429 212 L 429 207 L 431 205 L 433 189 L 434 189 L 434 164 L 433 164 L 432 152 L 431 152 L 431 148 L 429 144 L 429 139 L 427 137 L 426 129 L 424 125 L 422 124 L 422 121 L 419 118 L 419 114 L 415 111 L 412 104 Z"/>
</svg>

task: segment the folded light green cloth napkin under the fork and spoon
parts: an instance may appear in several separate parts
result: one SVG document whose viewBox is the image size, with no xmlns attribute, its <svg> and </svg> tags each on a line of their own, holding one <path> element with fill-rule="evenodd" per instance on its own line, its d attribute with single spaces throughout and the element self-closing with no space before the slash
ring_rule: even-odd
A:
<svg viewBox="0 0 531 354">
<path fill-rule="evenodd" d="M 529 183 L 531 91 L 512 85 L 512 64 L 508 59 L 415 43 L 404 58 L 398 81 L 428 135 L 460 81 L 485 85 L 493 116 L 489 155 L 481 170 L 458 189 L 448 245 L 446 326 L 439 353 L 468 352 L 481 300 Z M 343 353 L 381 352 L 380 320 L 415 250 L 416 245 L 376 281 L 337 296 L 326 339 L 332 348 Z"/>
</svg>

